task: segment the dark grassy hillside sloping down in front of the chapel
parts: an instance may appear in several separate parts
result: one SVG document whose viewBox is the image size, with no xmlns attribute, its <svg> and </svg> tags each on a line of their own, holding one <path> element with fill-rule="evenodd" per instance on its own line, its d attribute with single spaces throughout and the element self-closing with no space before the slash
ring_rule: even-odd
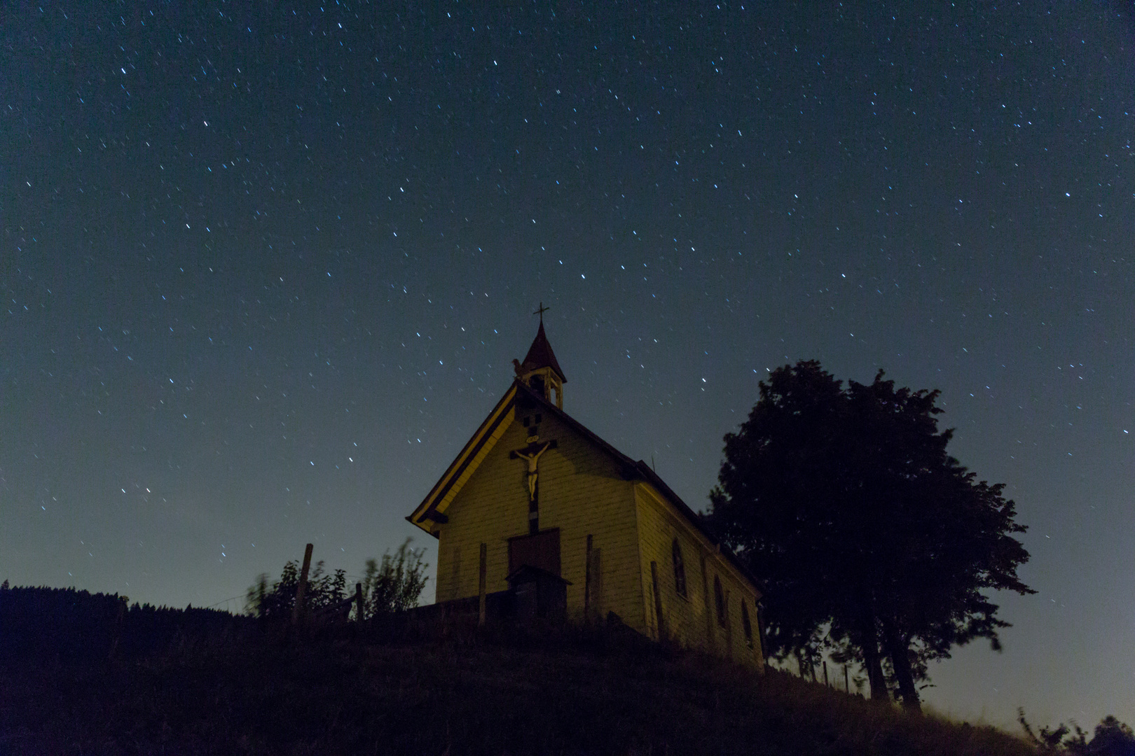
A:
<svg viewBox="0 0 1135 756">
<path fill-rule="evenodd" d="M 756 677 L 627 631 L 387 625 L 300 636 L 154 610 L 149 627 L 160 630 L 142 632 L 132 623 L 148 614 L 119 619 L 99 603 L 118 602 L 110 596 L 67 620 L 102 640 L 64 654 L 30 643 L 33 621 L 12 611 L 10 593 L 0 603 L 0 754 L 1035 753 L 989 728 Z M 123 639 L 110 653 L 116 626 Z M 8 653 L 12 644 L 34 656 Z"/>
</svg>

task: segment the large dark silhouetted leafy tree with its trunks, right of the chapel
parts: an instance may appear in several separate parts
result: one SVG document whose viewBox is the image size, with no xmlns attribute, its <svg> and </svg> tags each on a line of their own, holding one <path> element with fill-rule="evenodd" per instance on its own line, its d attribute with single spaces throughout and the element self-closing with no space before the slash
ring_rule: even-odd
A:
<svg viewBox="0 0 1135 756">
<path fill-rule="evenodd" d="M 725 436 L 709 521 L 767 589 L 770 651 L 823 639 L 864 664 L 872 696 L 918 707 L 927 662 L 978 637 L 999 648 L 987 591 L 1033 593 L 1003 484 L 977 481 L 939 431 L 938 391 L 880 371 L 847 387 L 815 360 L 773 371 Z"/>
</svg>

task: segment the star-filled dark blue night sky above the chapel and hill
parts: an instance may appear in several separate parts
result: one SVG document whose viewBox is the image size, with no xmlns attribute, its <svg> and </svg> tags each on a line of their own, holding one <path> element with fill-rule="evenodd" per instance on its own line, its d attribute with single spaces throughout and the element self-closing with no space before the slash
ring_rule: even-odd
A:
<svg viewBox="0 0 1135 756">
<path fill-rule="evenodd" d="M 1135 723 L 1128 5 L 252 6 L 0 16 L 0 578 L 359 575 L 543 301 L 696 509 L 770 368 L 941 389 L 1039 593 L 928 702 Z"/>
</svg>

